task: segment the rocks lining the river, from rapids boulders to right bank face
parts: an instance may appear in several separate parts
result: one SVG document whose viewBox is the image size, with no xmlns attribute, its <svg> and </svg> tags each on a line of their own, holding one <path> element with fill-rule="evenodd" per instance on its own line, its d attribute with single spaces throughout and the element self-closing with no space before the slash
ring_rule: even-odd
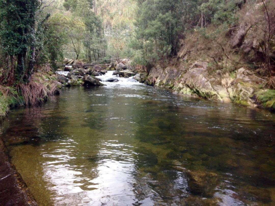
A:
<svg viewBox="0 0 275 206">
<path fill-rule="evenodd" d="M 72 63 L 72 60 L 65 59 Z M 238 105 L 266 108 L 275 110 L 275 90 L 264 89 L 266 80 L 259 77 L 253 71 L 241 67 L 231 73 L 221 70 L 211 71 L 207 62 L 197 61 L 191 66 L 186 66 L 177 60 L 172 66 L 152 67 L 149 74 L 140 73 L 131 66 L 129 59 L 121 62 L 112 61 L 109 66 L 92 67 L 65 66 L 64 71 L 68 74 L 59 75 L 58 81 L 67 87 L 76 85 L 103 86 L 100 75 L 113 72 L 117 77 L 130 77 L 133 79 L 153 85 L 171 89 L 175 93 L 202 97 L 212 101 L 234 102 Z M 108 81 L 108 80 L 107 80 Z M 117 81 L 115 78 L 110 82 Z"/>
</svg>

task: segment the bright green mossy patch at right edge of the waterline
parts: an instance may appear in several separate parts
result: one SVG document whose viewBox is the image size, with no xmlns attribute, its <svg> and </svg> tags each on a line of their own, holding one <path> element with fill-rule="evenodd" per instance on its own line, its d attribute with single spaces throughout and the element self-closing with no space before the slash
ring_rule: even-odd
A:
<svg viewBox="0 0 275 206">
<path fill-rule="evenodd" d="M 275 109 L 275 90 L 260 90 L 255 94 L 263 108 Z"/>
</svg>

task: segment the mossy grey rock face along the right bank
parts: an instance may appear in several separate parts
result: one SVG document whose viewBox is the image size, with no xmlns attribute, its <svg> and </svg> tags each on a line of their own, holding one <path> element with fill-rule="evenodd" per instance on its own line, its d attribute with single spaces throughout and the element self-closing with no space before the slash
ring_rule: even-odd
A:
<svg viewBox="0 0 275 206">
<path fill-rule="evenodd" d="M 158 65 L 151 69 L 147 80 L 151 85 L 169 88 L 177 93 L 250 107 L 261 106 L 256 94 L 263 82 L 245 68 L 238 69 L 233 75 L 210 74 L 207 62 L 195 62 L 190 68 L 181 65 L 162 68 Z"/>
</svg>

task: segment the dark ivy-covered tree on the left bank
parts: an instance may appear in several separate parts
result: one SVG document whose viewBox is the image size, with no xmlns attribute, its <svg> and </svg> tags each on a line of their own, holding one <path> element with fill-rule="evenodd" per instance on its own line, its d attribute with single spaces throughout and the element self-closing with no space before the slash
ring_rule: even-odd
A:
<svg viewBox="0 0 275 206">
<path fill-rule="evenodd" d="M 12 85 L 15 81 L 20 83 L 25 75 L 29 80 L 33 70 L 34 55 L 27 67 L 27 52 L 34 51 L 35 44 L 35 17 L 41 1 L 38 0 L 1 0 L 0 1 L 0 38 L 2 48 L 9 57 L 10 71 L 7 82 Z M 16 59 L 15 59 L 16 58 Z M 15 62 L 16 68 L 15 68 Z"/>
</svg>

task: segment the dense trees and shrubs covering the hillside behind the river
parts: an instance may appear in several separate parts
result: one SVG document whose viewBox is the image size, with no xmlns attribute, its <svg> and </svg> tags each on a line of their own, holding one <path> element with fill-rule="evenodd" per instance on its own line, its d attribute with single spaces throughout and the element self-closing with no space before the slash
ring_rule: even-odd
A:
<svg viewBox="0 0 275 206">
<path fill-rule="evenodd" d="M 262 2 L 1 0 L 0 80 L 9 85 L 28 82 L 33 68 L 44 63 L 57 68 L 63 57 L 87 62 L 133 57 L 135 64 L 148 66 L 176 56 L 183 47 L 183 40 L 186 48 L 193 45 L 194 39 L 201 40 L 200 44 L 211 40 L 216 48 L 221 45 L 220 52 L 224 52 L 222 41 L 229 42 L 230 35 L 237 33 L 241 26 L 258 27 L 257 32 L 261 32 L 259 37 L 262 38 L 262 48 L 258 50 L 270 68 L 274 63 L 270 55 L 274 47 L 274 28 L 271 25 L 274 1 L 266 1 L 266 9 Z M 244 9 L 246 13 L 260 5 L 260 13 L 254 11 L 253 18 L 243 22 L 240 16 L 247 14 L 240 10 L 244 5 L 248 8 Z M 191 37 L 193 39 L 188 45 L 186 40 Z M 213 49 L 208 46 L 208 50 Z M 223 58 L 221 56 L 229 57 L 228 54 L 226 57 L 216 53 L 211 54 L 216 63 Z"/>
</svg>

